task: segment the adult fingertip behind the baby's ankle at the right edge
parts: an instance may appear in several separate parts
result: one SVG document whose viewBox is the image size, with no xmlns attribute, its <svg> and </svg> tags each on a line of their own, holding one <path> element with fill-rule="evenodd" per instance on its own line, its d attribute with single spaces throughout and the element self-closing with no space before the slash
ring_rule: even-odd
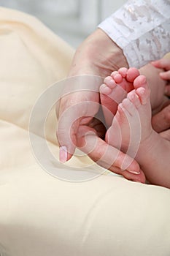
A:
<svg viewBox="0 0 170 256">
<path fill-rule="evenodd" d="M 170 101 L 169 101 L 170 102 Z M 163 132 L 170 127 L 170 105 L 152 116 L 152 127 L 156 132 Z"/>
</svg>

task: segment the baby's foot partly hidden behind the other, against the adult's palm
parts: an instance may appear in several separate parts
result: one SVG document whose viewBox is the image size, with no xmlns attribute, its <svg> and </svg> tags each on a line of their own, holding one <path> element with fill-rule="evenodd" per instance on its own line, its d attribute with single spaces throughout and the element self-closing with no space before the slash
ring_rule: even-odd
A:
<svg viewBox="0 0 170 256">
<path fill-rule="evenodd" d="M 112 124 L 113 116 L 117 112 L 117 105 L 123 101 L 129 91 L 134 89 L 133 83 L 137 76 L 139 76 L 138 69 L 122 67 L 104 79 L 104 84 L 100 87 L 100 97 L 108 126 Z"/>
</svg>

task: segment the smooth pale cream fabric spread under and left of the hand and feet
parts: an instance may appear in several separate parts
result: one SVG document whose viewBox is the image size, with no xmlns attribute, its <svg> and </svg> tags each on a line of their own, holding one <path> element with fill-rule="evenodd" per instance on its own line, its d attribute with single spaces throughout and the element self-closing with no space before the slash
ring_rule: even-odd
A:
<svg viewBox="0 0 170 256">
<path fill-rule="evenodd" d="M 1 255 L 169 256 L 169 189 L 119 176 L 61 181 L 34 159 L 31 108 L 66 77 L 73 53 L 35 18 L 0 9 Z M 47 140 L 58 152 L 53 113 L 48 119 Z"/>
</svg>

